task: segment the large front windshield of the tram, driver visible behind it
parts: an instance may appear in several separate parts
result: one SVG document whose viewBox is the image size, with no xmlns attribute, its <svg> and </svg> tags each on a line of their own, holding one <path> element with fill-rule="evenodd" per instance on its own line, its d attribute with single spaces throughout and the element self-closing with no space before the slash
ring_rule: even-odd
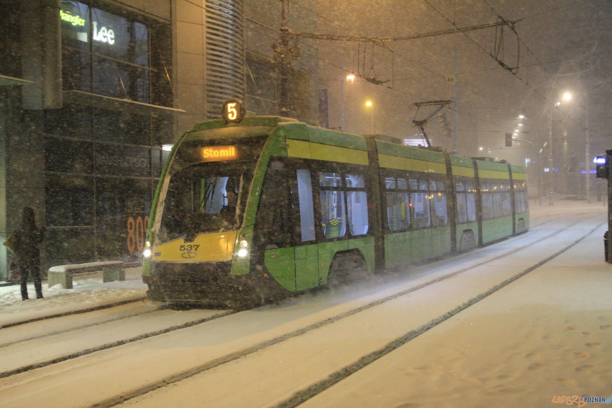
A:
<svg viewBox="0 0 612 408">
<path fill-rule="evenodd" d="M 242 225 L 254 162 L 201 163 L 173 174 L 163 204 L 162 241 L 193 240 Z"/>
</svg>

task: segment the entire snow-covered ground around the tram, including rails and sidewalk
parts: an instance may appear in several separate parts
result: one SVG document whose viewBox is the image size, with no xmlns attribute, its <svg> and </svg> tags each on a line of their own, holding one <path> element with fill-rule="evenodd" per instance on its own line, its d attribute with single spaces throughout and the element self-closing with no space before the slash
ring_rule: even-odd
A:
<svg viewBox="0 0 612 408">
<path fill-rule="evenodd" d="M 520 236 L 253 310 L 151 302 L 140 268 L 0 287 L 0 407 L 592 405 L 612 395 L 607 209 L 530 205 Z"/>
</svg>

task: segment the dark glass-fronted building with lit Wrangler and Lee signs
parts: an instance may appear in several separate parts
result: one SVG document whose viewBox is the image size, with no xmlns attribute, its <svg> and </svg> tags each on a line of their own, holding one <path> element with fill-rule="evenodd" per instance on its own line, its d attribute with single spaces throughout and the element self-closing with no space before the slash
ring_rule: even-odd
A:
<svg viewBox="0 0 612 408">
<path fill-rule="evenodd" d="M 242 1 L 2 7 L 0 242 L 31 206 L 47 226 L 43 270 L 139 261 L 174 140 L 244 99 Z M 9 264 L 0 246 L 0 280 Z"/>
</svg>

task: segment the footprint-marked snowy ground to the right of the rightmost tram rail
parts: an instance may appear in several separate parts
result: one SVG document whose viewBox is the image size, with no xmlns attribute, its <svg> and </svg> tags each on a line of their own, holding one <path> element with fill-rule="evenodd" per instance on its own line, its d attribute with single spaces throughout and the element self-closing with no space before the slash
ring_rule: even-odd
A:
<svg viewBox="0 0 612 408">
<path fill-rule="evenodd" d="M 610 396 L 605 230 L 300 407 L 555 407 L 557 396 Z"/>
</svg>

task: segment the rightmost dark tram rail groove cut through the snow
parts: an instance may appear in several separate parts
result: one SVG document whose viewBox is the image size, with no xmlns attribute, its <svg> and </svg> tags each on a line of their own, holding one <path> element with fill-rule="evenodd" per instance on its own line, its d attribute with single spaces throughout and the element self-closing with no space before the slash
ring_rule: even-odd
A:
<svg viewBox="0 0 612 408">
<path fill-rule="evenodd" d="M 598 224 L 597 226 L 592 228 L 589 232 L 581 236 L 579 239 L 570 243 L 570 245 L 567 245 L 566 247 L 548 256 L 547 258 L 542 259 L 542 261 L 539 261 L 531 265 L 530 267 L 528 267 L 527 269 L 524 269 L 520 273 L 517 273 L 516 275 L 511 276 L 510 278 L 502 281 L 501 283 L 496 284 L 495 286 L 491 287 L 487 291 L 482 292 L 479 295 L 476 295 L 475 297 L 472 297 L 467 302 L 464 302 L 461 305 L 453 308 L 452 310 L 447 311 L 446 313 L 441 314 L 438 317 L 435 317 L 434 319 L 431 319 L 430 321 L 428 321 L 424 325 L 421 325 L 418 328 L 410 330 L 409 332 L 405 333 L 405 335 L 393 339 L 392 341 L 387 343 L 386 346 L 381 347 L 380 349 L 373 351 L 370 354 L 364 355 L 363 357 L 359 358 L 353 363 L 330 374 L 329 376 L 327 376 L 327 378 L 320 380 L 319 382 L 316 382 L 315 384 L 310 385 L 304 390 L 297 391 L 296 393 L 293 394 L 293 396 L 289 397 L 288 399 L 281 402 L 280 404 L 275 405 L 273 408 L 294 408 L 308 401 L 309 399 L 315 397 L 316 395 L 319 395 L 321 392 L 327 390 L 328 388 L 332 387 L 332 385 L 337 384 L 338 382 L 350 376 L 351 374 L 356 373 L 360 369 L 367 367 L 373 362 L 376 362 L 376 360 L 378 360 L 379 358 L 384 357 L 385 355 L 389 354 L 395 349 L 398 349 L 399 347 L 408 343 L 412 339 L 415 339 L 418 336 L 422 335 L 423 333 L 427 332 L 428 330 L 431 330 L 431 328 L 434 328 L 437 325 L 441 324 L 442 322 L 447 321 L 448 319 L 450 319 L 450 317 L 453 317 L 457 313 L 460 313 L 461 311 L 466 310 L 470 306 L 473 306 L 476 303 L 480 302 L 480 300 L 486 299 L 490 295 L 499 291 L 503 287 L 508 286 L 510 283 L 516 281 L 522 276 L 527 275 L 529 272 L 532 272 L 533 270 L 539 268 L 540 266 L 546 264 L 547 262 L 550 262 L 552 259 L 558 257 L 565 251 L 577 245 L 579 242 L 581 242 L 583 239 L 591 235 L 593 232 L 597 231 L 597 229 L 601 228 L 604 224 L 605 222 Z"/>
</svg>

